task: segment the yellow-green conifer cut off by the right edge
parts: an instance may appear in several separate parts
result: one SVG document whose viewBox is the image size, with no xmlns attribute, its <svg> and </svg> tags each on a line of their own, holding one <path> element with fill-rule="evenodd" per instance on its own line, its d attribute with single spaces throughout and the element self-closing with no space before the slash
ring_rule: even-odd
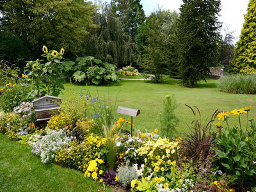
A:
<svg viewBox="0 0 256 192">
<path fill-rule="evenodd" d="M 256 1 L 250 0 L 244 16 L 243 29 L 237 42 L 234 60 L 230 62 L 229 72 L 256 73 Z"/>
</svg>

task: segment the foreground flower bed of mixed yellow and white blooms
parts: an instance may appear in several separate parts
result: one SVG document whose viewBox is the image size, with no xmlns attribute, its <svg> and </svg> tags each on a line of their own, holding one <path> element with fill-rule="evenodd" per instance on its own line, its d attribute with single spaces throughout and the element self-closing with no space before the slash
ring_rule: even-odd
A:
<svg viewBox="0 0 256 192">
<path fill-rule="evenodd" d="M 78 97 L 88 111 L 90 105 L 99 104 L 90 98 L 81 93 Z M 231 128 L 228 123 L 224 128 L 218 122 L 216 131 L 207 129 L 214 142 L 195 143 L 193 138 L 200 134 L 195 131 L 185 137 L 161 138 L 158 129 L 154 132 L 135 129 L 131 136 L 127 131 L 131 122 L 125 118 L 109 122 L 108 127 L 102 120 L 106 121 L 104 115 L 109 116 L 109 106 L 100 111 L 105 113 L 102 118 L 98 115 L 88 118 L 90 115 L 82 113 L 68 116 L 65 102 L 62 105 L 60 113 L 52 116 L 46 127 L 38 127 L 31 118 L 34 114 L 30 104 L 24 102 L 14 109 L 15 113 L 1 115 L 0 130 L 11 140 L 30 145 L 31 152 L 40 157 L 42 163 L 68 166 L 83 172 L 84 177 L 100 183 L 120 184 L 131 191 L 254 190 L 256 129 L 253 120 L 250 120 L 251 129 L 242 129 L 240 124 L 238 128 Z M 250 107 L 219 111 L 214 116 L 228 122 L 230 113 L 240 119 L 249 111 Z M 195 125 L 199 131 L 201 125 Z M 204 128 L 200 129 L 204 132 Z M 200 148 L 198 159 L 193 156 L 196 153 L 193 148 L 188 152 L 188 143 L 196 145 L 195 150 Z M 202 148 L 206 144 L 210 145 L 207 150 Z"/>
</svg>

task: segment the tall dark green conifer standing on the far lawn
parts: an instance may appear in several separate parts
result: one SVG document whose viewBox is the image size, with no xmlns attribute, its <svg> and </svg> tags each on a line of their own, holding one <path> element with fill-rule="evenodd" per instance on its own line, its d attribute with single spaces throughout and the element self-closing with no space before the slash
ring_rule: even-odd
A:
<svg viewBox="0 0 256 192">
<path fill-rule="evenodd" d="M 205 81 L 209 65 L 218 57 L 220 0 L 183 0 L 175 44 L 182 84 L 196 86 Z"/>
</svg>

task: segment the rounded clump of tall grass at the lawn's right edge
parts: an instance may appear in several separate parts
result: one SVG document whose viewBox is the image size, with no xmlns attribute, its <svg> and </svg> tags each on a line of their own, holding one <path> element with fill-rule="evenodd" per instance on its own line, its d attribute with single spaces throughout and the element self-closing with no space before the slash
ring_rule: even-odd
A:
<svg viewBox="0 0 256 192">
<path fill-rule="evenodd" d="M 256 74 L 222 77 L 218 83 L 221 92 L 236 94 L 256 93 Z"/>
</svg>

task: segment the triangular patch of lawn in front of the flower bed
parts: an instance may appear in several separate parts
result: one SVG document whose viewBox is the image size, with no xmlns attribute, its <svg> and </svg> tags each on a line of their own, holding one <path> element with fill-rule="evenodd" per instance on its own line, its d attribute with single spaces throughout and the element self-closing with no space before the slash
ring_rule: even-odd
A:
<svg viewBox="0 0 256 192">
<path fill-rule="evenodd" d="M 57 164 L 43 164 L 31 148 L 0 134 L 0 191 L 113 191 Z"/>
</svg>

